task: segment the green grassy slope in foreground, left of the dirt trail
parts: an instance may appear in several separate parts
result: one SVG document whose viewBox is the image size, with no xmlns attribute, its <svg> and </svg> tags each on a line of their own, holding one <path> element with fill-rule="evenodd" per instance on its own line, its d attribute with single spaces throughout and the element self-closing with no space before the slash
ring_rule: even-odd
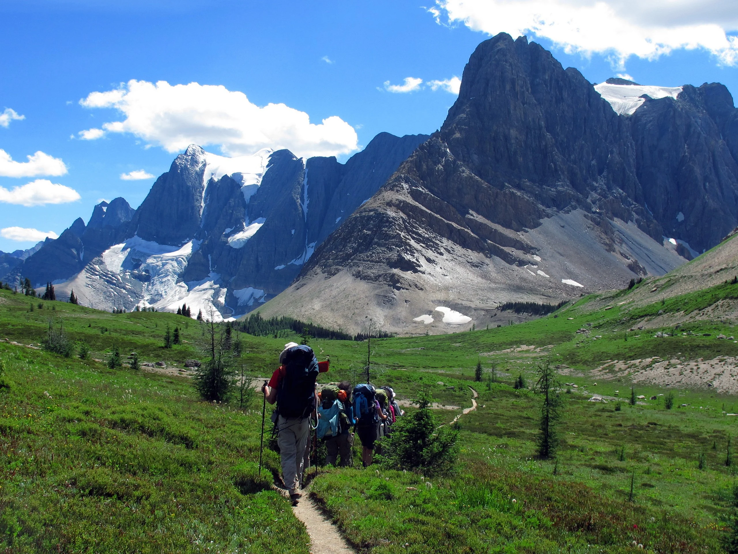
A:
<svg viewBox="0 0 738 554">
<path fill-rule="evenodd" d="M 201 403 L 183 378 L 7 343 L 0 359 L 4 552 L 308 552 L 289 502 L 234 484 L 261 413 Z"/>
</svg>

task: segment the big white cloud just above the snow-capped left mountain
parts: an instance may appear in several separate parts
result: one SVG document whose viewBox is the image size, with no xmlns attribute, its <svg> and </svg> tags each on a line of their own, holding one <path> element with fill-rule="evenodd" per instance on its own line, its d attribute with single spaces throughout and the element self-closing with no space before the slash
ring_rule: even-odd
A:
<svg viewBox="0 0 738 554">
<path fill-rule="evenodd" d="M 104 123 L 104 131 L 131 133 L 168 152 L 196 143 L 218 145 L 230 156 L 261 148 L 289 148 L 298 157 L 335 156 L 356 150 L 358 141 L 354 128 L 340 117 L 310 123 L 305 112 L 285 104 L 259 107 L 243 92 L 224 86 L 132 80 L 120 89 L 92 92 L 80 104 L 117 109 L 125 119 Z M 83 132 L 90 131 L 97 129 Z"/>
</svg>

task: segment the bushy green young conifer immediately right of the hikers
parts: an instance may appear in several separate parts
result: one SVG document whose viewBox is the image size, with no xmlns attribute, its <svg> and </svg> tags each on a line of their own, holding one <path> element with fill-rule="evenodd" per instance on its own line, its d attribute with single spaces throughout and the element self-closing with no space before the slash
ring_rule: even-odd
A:
<svg viewBox="0 0 738 554">
<path fill-rule="evenodd" d="M 378 462 L 387 469 L 420 471 L 432 476 L 451 473 L 458 459 L 458 430 L 443 425 L 436 429 L 430 409 L 432 397 L 425 391 L 417 400 L 418 410 L 401 417 L 392 434 L 382 439 Z"/>
</svg>

